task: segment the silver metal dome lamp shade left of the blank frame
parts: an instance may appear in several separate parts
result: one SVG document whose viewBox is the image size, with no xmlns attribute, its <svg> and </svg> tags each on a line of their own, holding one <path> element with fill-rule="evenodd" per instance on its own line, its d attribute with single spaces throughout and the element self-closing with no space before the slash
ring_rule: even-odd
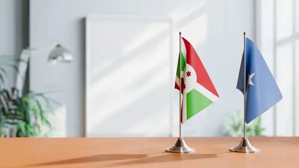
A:
<svg viewBox="0 0 299 168">
<path fill-rule="evenodd" d="M 48 61 L 54 64 L 56 62 L 68 63 L 73 61 L 73 56 L 66 48 L 58 44 L 51 50 Z"/>
</svg>

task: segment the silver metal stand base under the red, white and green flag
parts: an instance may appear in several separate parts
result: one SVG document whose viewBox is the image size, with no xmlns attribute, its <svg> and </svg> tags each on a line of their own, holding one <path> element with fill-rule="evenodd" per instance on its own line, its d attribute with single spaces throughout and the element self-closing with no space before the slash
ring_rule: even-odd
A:
<svg viewBox="0 0 299 168">
<path fill-rule="evenodd" d="M 195 150 L 190 148 L 186 145 L 183 138 L 177 138 L 177 141 L 174 146 L 167 148 L 165 152 L 168 153 L 178 153 L 178 154 L 185 154 L 185 153 L 193 153 Z"/>
</svg>

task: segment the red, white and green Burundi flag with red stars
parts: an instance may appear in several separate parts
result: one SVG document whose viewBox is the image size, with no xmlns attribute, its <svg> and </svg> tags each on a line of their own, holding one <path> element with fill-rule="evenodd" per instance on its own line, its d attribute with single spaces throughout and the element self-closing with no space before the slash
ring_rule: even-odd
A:
<svg viewBox="0 0 299 168">
<path fill-rule="evenodd" d="M 193 46 L 182 37 L 181 61 L 178 60 L 175 89 L 183 94 L 181 123 L 185 123 L 219 99 L 218 93 Z M 181 69 L 179 63 L 181 62 Z M 181 89 L 179 78 L 181 77 Z"/>
</svg>

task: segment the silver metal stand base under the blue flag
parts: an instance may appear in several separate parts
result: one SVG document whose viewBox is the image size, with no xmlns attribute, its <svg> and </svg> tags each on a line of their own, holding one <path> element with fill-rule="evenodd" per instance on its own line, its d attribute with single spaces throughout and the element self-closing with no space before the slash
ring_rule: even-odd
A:
<svg viewBox="0 0 299 168">
<path fill-rule="evenodd" d="M 234 148 L 229 149 L 231 152 L 238 152 L 238 153 L 259 153 L 260 149 L 255 148 L 250 144 L 247 137 L 242 137 L 240 144 Z"/>
</svg>

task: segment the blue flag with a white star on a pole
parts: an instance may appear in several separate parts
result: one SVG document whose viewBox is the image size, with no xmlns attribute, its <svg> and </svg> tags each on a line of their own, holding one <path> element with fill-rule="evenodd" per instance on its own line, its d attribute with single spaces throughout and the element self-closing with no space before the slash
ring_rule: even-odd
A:
<svg viewBox="0 0 299 168">
<path fill-rule="evenodd" d="M 283 99 L 275 79 L 258 47 L 246 37 L 246 114 L 245 121 L 252 120 Z M 244 52 L 240 66 L 237 89 L 244 92 Z M 243 93 L 244 94 L 244 93 Z"/>
</svg>

